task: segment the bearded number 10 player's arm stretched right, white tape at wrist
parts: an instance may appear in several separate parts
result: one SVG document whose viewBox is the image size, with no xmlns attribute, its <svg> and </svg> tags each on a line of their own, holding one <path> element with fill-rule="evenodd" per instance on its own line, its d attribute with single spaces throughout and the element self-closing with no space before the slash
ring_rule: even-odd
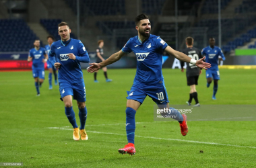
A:
<svg viewBox="0 0 256 168">
<path fill-rule="evenodd" d="M 211 67 L 211 64 L 210 63 L 207 63 L 207 62 L 203 62 L 203 58 L 199 59 L 199 60 L 195 60 L 193 58 L 190 58 L 189 56 L 187 56 L 186 54 L 183 54 L 182 52 L 179 52 L 177 50 L 173 50 L 170 46 L 167 46 L 165 48 L 165 51 L 168 53 L 168 54 L 171 54 L 173 55 L 175 58 L 183 61 L 183 62 L 189 62 L 193 65 L 196 65 L 197 67 L 199 68 L 202 68 L 202 69 L 207 69 L 207 68 L 210 68 Z"/>
</svg>

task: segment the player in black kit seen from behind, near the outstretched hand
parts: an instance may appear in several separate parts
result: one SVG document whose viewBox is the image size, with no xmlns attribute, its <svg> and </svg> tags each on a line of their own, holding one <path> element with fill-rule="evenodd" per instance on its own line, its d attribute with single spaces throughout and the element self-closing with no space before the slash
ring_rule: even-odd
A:
<svg viewBox="0 0 256 168">
<path fill-rule="evenodd" d="M 201 51 L 199 49 L 193 47 L 193 43 L 194 43 L 194 39 L 191 37 L 187 37 L 186 38 L 187 48 L 182 52 L 187 56 L 189 56 L 190 58 L 199 60 L 203 58 L 203 56 L 201 55 Z M 181 72 L 184 72 L 183 67 L 184 67 L 184 62 L 181 61 Z M 187 66 L 187 69 L 186 69 L 187 85 L 190 86 L 189 101 L 187 101 L 187 104 L 189 106 L 191 106 L 191 101 L 193 98 L 195 99 L 195 106 L 200 106 L 197 98 L 197 91 L 195 89 L 195 85 L 197 85 L 197 81 L 200 74 L 201 74 L 201 69 L 196 65 L 189 64 L 189 66 Z"/>
</svg>

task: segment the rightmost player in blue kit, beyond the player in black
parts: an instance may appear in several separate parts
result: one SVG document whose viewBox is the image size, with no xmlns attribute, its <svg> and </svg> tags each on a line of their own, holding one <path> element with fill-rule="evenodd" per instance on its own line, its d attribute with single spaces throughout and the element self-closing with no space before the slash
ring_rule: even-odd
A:
<svg viewBox="0 0 256 168">
<path fill-rule="evenodd" d="M 215 39 L 209 39 L 210 46 L 203 48 L 201 51 L 202 55 L 205 55 L 205 62 L 208 62 L 212 65 L 211 69 L 206 70 L 206 79 L 207 79 L 207 87 L 210 87 L 212 83 L 212 79 L 214 79 L 214 93 L 212 95 L 212 99 L 216 99 L 216 93 L 218 91 L 218 80 L 220 80 L 220 72 L 218 67 L 218 58 L 221 56 L 220 60 L 225 60 L 225 56 L 222 50 L 215 46 Z"/>
</svg>

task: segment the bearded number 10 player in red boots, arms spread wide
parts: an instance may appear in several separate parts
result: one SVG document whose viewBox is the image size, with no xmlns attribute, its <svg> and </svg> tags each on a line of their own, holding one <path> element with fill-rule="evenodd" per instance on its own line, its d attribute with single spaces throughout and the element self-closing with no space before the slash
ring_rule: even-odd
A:
<svg viewBox="0 0 256 168">
<path fill-rule="evenodd" d="M 168 54 L 172 54 L 179 60 L 184 62 L 190 62 L 197 67 L 203 69 L 210 68 L 210 64 L 203 62 L 203 59 L 195 60 L 189 56 L 173 50 L 158 36 L 150 34 L 151 24 L 148 16 L 140 14 L 135 18 L 135 28 L 138 31 L 138 36 L 130 38 L 129 41 L 119 52 L 112 54 L 108 59 L 100 63 L 92 63 L 88 67 L 88 72 L 93 73 L 101 67 L 110 65 L 113 62 L 119 60 L 125 53 L 134 52 L 137 58 L 137 72 L 133 81 L 133 86 L 127 97 L 126 108 L 126 132 L 128 144 L 123 149 L 119 149 L 119 153 L 129 153 L 129 155 L 135 154 L 134 136 L 135 136 L 135 114 L 136 111 L 143 103 L 144 99 L 148 95 L 154 102 L 165 108 L 168 106 L 168 95 L 164 86 L 164 79 L 162 76 L 162 52 L 166 51 Z M 188 132 L 187 116 L 181 115 L 178 110 L 170 108 L 170 115 L 177 116 L 174 118 L 179 121 L 181 126 L 181 134 L 185 136 Z"/>
</svg>

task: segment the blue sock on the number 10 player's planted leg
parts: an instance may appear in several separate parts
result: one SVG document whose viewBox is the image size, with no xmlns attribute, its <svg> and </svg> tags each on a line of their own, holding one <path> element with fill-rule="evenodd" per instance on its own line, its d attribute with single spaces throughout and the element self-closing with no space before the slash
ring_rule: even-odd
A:
<svg viewBox="0 0 256 168">
<path fill-rule="evenodd" d="M 132 108 L 126 108 L 126 134 L 128 143 L 134 144 L 134 136 L 135 136 L 135 114 L 136 111 Z"/>
</svg>

